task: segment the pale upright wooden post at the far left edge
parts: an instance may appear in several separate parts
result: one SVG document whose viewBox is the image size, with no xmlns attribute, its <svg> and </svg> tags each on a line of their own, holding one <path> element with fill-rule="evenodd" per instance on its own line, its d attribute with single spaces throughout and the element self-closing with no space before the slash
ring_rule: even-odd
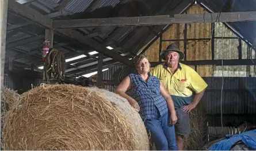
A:
<svg viewBox="0 0 256 151">
<path fill-rule="evenodd" d="M 8 0 L 0 0 L 0 56 L 1 56 L 1 88 L 3 90 L 3 82 L 5 81 L 5 46 L 6 46 L 6 26 L 7 26 L 7 6 Z M 2 94 L 2 92 L 0 92 Z M 2 95 L 1 95 L 2 98 Z"/>
</svg>

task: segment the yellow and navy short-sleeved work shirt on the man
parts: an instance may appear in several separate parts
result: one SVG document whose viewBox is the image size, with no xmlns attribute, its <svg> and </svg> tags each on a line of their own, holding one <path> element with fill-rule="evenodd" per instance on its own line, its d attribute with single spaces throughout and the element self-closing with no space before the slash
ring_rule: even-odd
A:
<svg viewBox="0 0 256 151">
<path fill-rule="evenodd" d="M 208 86 L 194 69 L 182 63 L 178 64 L 178 69 L 174 74 L 165 63 L 152 68 L 150 74 L 159 78 L 169 91 L 175 109 L 191 103 L 193 91 L 197 94 Z"/>
</svg>

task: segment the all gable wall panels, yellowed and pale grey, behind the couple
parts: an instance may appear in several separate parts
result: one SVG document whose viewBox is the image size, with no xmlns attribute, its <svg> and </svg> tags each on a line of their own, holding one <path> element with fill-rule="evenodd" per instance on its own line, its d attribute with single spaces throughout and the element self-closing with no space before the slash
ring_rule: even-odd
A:
<svg viewBox="0 0 256 151">
<path fill-rule="evenodd" d="M 193 5 L 187 11 L 188 14 L 203 14 L 207 13 L 200 5 Z M 214 39 L 214 59 L 238 59 L 239 39 L 238 37 L 222 23 L 215 24 L 215 39 Z M 186 28 L 185 28 L 186 26 Z M 186 60 L 211 60 L 212 59 L 212 40 L 211 40 L 211 23 L 196 23 L 196 24 L 173 24 L 161 38 L 158 38 L 147 49 L 145 55 L 150 61 L 159 61 L 159 46 L 161 43 L 161 51 L 166 47 L 175 43 L 181 51 L 185 51 Z M 185 29 L 187 29 L 185 31 Z M 184 37 L 184 35 L 187 35 Z M 224 38 L 221 38 L 224 37 Z M 231 38 L 227 38 L 231 37 Z M 184 43 L 184 38 L 187 40 Z M 205 40 L 205 38 L 208 38 Z M 251 55 L 252 53 L 252 55 Z M 251 57 L 252 56 L 252 57 Z M 255 51 L 250 52 L 247 44 L 242 41 L 242 59 L 255 58 Z M 163 60 L 162 60 L 163 61 Z M 194 66 L 190 66 L 195 69 Z M 256 69 L 256 68 L 255 68 Z M 216 65 L 197 65 L 196 71 L 202 77 L 211 76 L 256 76 L 254 65 L 234 65 L 221 66 Z"/>
</svg>

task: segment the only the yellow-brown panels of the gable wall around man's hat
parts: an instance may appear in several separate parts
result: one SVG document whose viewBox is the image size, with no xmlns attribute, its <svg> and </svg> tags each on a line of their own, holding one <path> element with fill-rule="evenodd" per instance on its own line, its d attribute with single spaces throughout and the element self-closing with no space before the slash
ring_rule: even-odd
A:
<svg viewBox="0 0 256 151">
<path fill-rule="evenodd" d="M 207 13 L 199 5 L 192 6 L 188 14 Z M 184 51 L 184 41 L 165 41 L 165 40 L 184 40 L 185 24 L 173 24 L 165 33 L 162 34 L 162 48 L 175 43 L 180 50 Z M 211 24 L 188 24 L 187 25 L 187 38 L 211 38 Z M 145 52 L 145 55 L 150 61 L 159 61 L 159 44 L 160 38 L 151 45 Z M 189 40 L 186 44 L 186 60 L 211 60 L 211 40 L 205 41 L 192 41 Z M 163 61 L 163 60 L 162 60 Z M 195 69 L 194 65 L 190 66 Z M 212 65 L 198 65 L 197 72 L 201 76 L 213 76 Z"/>
</svg>

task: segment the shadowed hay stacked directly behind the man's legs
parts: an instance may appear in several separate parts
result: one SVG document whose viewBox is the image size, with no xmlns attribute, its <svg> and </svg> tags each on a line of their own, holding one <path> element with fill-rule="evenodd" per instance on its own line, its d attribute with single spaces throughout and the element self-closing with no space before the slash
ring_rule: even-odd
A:
<svg viewBox="0 0 256 151">
<path fill-rule="evenodd" d="M 205 144 L 203 140 L 207 133 L 206 110 L 202 102 L 189 113 L 191 133 L 185 137 L 185 150 L 200 150 Z"/>
</svg>

